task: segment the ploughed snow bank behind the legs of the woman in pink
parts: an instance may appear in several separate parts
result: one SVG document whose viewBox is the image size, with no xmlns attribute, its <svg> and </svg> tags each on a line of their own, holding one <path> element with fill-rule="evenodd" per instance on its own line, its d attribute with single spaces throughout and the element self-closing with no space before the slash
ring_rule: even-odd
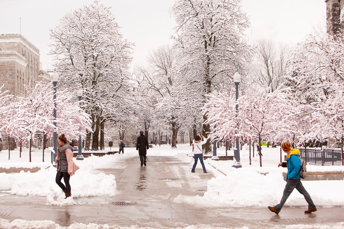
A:
<svg viewBox="0 0 344 229">
<path fill-rule="evenodd" d="M 41 169 L 36 173 L 0 173 L 0 181 L 11 182 L 8 193 L 15 195 L 60 196 L 61 188 L 55 183 L 56 168 Z M 62 179 L 63 181 L 63 179 Z M 115 176 L 104 173 L 94 174 L 88 168 L 80 168 L 69 183 L 73 197 L 113 196 L 116 194 Z M 8 185 L 8 184 L 7 184 Z M 3 189 L 6 187 L 3 187 Z"/>
</svg>

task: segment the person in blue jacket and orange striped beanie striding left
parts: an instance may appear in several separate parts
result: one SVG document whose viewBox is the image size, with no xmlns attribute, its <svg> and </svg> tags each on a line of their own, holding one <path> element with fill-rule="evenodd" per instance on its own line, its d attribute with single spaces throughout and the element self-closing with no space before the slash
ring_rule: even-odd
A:
<svg viewBox="0 0 344 229">
<path fill-rule="evenodd" d="M 269 206 L 269 210 L 272 212 L 275 212 L 278 214 L 284 203 L 286 203 L 286 200 L 288 199 L 289 195 L 293 191 L 294 188 L 301 193 L 304 198 L 306 199 L 308 203 L 308 210 L 304 211 L 304 213 L 311 213 L 313 211 L 316 211 L 316 207 L 306 191 L 306 189 L 303 187 L 301 183 L 301 176 L 300 176 L 300 168 L 301 168 L 301 161 L 299 158 L 299 149 L 291 149 L 291 145 L 289 142 L 283 142 L 281 145 L 282 150 L 287 153 L 287 162 L 282 162 L 278 164 L 282 167 L 288 167 L 288 173 L 287 173 L 287 184 L 283 191 L 283 196 L 281 199 L 281 202 L 278 205 L 275 205 L 274 207 Z"/>
</svg>

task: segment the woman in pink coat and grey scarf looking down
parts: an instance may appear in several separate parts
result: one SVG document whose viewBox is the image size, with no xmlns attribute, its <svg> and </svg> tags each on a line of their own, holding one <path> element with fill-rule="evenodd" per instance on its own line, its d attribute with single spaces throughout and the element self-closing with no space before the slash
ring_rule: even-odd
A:
<svg viewBox="0 0 344 229">
<path fill-rule="evenodd" d="M 60 188 L 65 193 L 65 199 L 71 194 L 71 185 L 69 184 L 69 178 L 74 175 L 75 171 L 79 169 L 79 167 L 73 161 L 73 148 L 69 145 L 67 138 L 64 134 L 61 134 L 57 140 L 58 147 L 56 152 L 56 184 L 60 186 Z M 63 177 L 63 181 L 65 185 L 61 182 Z"/>
</svg>

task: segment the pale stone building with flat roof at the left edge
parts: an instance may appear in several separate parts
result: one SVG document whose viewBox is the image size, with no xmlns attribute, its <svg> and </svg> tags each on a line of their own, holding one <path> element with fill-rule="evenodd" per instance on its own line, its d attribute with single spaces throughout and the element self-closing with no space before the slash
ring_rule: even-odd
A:
<svg viewBox="0 0 344 229">
<path fill-rule="evenodd" d="M 50 82 L 50 75 L 41 70 L 39 49 L 19 33 L 0 34 L 0 86 L 14 96 L 26 96 L 24 85 L 40 80 Z M 3 136 L 3 149 L 8 149 L 8 138 Z M 10 140 L 10 148 L 16 147 Z"/>
</svg>

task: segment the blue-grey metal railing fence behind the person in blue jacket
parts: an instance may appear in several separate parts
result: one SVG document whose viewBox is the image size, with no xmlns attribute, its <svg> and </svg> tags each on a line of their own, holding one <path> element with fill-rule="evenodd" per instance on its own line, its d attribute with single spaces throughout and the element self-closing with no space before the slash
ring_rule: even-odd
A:
<svg viewBox="0 0 344 229">
<path fill-rule="evenodd" d="M 298 148 L 301 152 L 301 157 L 305 159 L 304 148 Z M 323 155 L 323 161 L 321 160 L 321 154 Z M 341 150 L 335 149 L 308 149 L 307 148 L 307 163 L 315 165 L 342 165 Z M 323 163 L 323 164 L 322 164 Z"/>
</svg>

